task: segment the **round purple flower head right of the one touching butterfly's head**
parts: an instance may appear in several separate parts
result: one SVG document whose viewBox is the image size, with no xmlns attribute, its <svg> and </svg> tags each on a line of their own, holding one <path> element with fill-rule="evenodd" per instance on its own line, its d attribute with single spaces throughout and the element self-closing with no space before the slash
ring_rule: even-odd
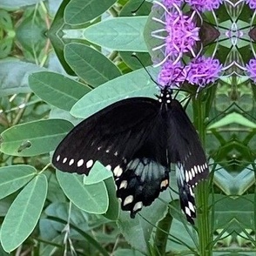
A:
<svg viewBox="0 0 256 256">
<path fill-rule="evenodd" d="M 220 76 L 222 64 L 212 57 L 199 57 L 185 67 L 186 80 L 189 84 L 197 84 L 205 87 L 206 84 L 214 83 Z"/>
</svg>

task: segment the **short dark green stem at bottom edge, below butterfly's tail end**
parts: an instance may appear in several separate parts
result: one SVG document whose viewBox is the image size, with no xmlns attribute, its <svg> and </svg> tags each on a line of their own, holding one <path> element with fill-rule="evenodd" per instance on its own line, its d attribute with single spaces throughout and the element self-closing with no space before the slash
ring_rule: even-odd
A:
<svg viewBox="0 0 256 256">
<path fill-rule="evenodd" d="M 156 231 L 156 236 L 154 239 L 155 250 L 157 255 L 165 255 L 166 244 L 168 240 L 168 234 L 170 227 L 172 225 L 172 215 L 169 211 L 166 213 L 165 218 L 160 220 L 158 223 L 158 228 Z"/>
</svg>

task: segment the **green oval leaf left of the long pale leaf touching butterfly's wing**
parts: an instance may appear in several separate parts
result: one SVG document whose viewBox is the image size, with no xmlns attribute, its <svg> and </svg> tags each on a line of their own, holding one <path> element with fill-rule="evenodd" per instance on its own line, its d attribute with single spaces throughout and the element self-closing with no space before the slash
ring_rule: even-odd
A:
<svg viewBox="0 0 256 256">
<path fill-rule="evenodd" d="M 30 75 L 29 84 L 39 98 L 65 111 L 70 111 L 78 99 L 91 91 L 88 86 L 69 77 L 46 71 Z"/>
</svg>

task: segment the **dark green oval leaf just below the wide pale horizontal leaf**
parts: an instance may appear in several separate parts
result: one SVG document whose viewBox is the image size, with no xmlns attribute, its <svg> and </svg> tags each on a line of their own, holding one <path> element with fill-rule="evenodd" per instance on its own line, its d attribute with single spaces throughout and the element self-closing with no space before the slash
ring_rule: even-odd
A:
<svg viewBox="0 0 256 256">
<path fill-rule="evenodd" d="M 91 86 L 104 84 L 121 75 L 107 57 L 84 44 L 65 45 L 64 57 L 77 76 Z"/>
</svg>

